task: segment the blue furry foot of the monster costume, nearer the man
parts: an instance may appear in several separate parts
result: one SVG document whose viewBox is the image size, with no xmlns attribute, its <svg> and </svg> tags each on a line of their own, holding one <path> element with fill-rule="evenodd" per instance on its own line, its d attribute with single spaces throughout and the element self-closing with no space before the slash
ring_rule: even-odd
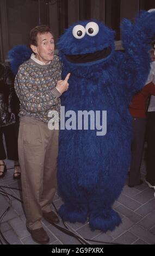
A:
<svg viewBox="0 0 155 256">
<path fill-rule="evenodd" d="M 82 206 L 79 206 L 77 209 L 73 208 L 71 205 L 63 204 L 58 212 L 63 221 L 84 223 L 87 218 L 87 211 L 86 209 L 82 208 Z"/>
</svg>

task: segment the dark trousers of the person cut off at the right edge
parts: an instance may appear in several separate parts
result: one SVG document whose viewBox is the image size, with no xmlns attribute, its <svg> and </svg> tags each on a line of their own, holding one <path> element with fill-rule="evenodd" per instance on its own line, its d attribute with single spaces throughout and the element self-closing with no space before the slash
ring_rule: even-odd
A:
<svg viewBox="0 0 155 256">
<path fill-rule="evenodd" d="M 147 113 L 146 180 L 155 186 L 155 111 Z"/>
</svg>

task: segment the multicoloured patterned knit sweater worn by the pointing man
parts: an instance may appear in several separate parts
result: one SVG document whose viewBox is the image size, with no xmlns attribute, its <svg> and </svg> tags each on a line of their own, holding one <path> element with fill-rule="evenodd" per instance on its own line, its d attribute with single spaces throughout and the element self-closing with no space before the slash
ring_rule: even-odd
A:
<svg viewBox="0 0 155 256">
<path fill-rule="evenodd" d="M 58 80 L 61 80 L 58 56 L 47 65 L 40 65 L 31 58 L 20 65 L 15 77 L 15 90 L 20 100 L 19 116 L 48 123 L 51 119 L 49 111 L 60 114 L 61 94 L 55 88 Z"/>
</svg>

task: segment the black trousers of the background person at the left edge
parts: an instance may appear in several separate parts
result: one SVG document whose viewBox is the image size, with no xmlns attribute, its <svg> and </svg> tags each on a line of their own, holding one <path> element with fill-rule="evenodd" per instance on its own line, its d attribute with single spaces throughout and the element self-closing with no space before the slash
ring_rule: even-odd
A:
<svg viewBox="0 0 155 256">
<path fill-rule="evenodd" d="M 0 127 L 0 160 L 18 161 L 18 123 Z M 3 134 L 7 155 L 4 149 Z"/>
</svg>

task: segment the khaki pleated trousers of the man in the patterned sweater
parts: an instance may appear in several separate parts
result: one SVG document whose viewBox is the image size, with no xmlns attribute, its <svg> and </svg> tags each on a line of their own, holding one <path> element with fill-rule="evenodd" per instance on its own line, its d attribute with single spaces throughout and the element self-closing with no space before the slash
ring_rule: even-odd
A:
<svg viewBox="0 0 155 256">
<path fill-rule="evenodd" d="M 18 155 L 29 229 L 41 228 L 42 212 L 52 210 L 57 189 L 58 135 L 58 130 L 49 130 L 45 123 L 20 122 Z"/>
</svg>

